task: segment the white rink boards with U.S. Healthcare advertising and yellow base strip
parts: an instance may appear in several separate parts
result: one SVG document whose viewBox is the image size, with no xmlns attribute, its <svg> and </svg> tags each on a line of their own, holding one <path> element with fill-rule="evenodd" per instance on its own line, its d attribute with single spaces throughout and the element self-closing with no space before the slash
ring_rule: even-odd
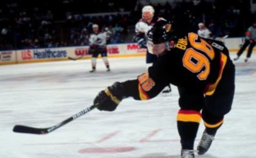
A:
<svg viewBox="0 0 256 158">
<path fill-rule="evenodd" d="M 237 52 L 244 38 L 223 39 L 230 52 Z M 89 46 L 73 46 L 58 48 L 36 48 L 14 51 L 0 51 L 0 65 L 21 64 L 49 61 L 66 61 L 68 57 L 90 59 Z M 256 51 L 256 49 L 254 49 Z M 109 57 L 145 56 L 146 49 L 140 49 L 137 43 L 111 44 L 107 46 Z"/>
</svg>

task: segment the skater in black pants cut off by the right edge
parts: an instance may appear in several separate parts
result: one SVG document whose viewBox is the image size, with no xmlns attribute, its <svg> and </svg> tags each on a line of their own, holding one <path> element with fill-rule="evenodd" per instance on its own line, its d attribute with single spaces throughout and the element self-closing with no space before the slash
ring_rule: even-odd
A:
<svg viewBox="0 0 256 158">
<path fill-rule="evenodd" d="M 235 57 L 235 61 L 239 59 L 239 57 L 243 54 L 245 48 L 249 45 L 249 49 L 247 51 L 247 55 L 246 55 L 246 59 L 244 60 L 244 62 L 247 62 L 249 60 L 249 58 L 252 55 L 252 49 L 255 45 L 255 41 L 256 41 L 256 21 L 253 22 L 252 26 L 249 27 L 246 31 L 246 36 L 245 36 L 245 41 L 243 46 L 239 49 L 239 51 L 237 52 L 237 57 Z"/>
</svg>

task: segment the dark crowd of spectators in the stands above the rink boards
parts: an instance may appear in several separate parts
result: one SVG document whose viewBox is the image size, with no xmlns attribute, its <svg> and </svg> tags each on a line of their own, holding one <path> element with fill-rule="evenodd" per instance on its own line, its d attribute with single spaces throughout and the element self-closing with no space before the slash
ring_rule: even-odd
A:
<svg viewBox="0 0 256 158">
<path fill-rule="evenodd" d="M 109 43 L 131 42 L 127 35 L 135 32 L 129 26 L 141 18 L 140 3 L 135 0 L 83 3 L 78 0 L 1 1 L 0 50 L 87 45 L 93 23 L 110 32 Z M 213 37 L 244 36 L 255 16 L 250 12 L 249 0 L 175 1 L 153 6 L 156 15 L 181 28 L 189 27 L 196 32 L 198 23 L 204 22 Z M 89 13 L 109 14 L 90 16 Z"/>
</svg>

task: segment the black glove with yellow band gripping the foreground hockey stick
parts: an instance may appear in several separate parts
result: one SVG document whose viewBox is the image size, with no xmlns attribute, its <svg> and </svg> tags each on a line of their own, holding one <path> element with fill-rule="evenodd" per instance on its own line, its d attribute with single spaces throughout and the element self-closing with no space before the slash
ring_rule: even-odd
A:
<svg viewBox="0 0 256 158">
<path fill-rule="evenodd" d="M 114 111 L 122 99 L 126 98 L 123 92 L 123 85 L 120 82 L 115 82 L 112 86 L 102 90 L 95 97 L 93 104 L 97 105 L 99 110 Z"/>
</svg>

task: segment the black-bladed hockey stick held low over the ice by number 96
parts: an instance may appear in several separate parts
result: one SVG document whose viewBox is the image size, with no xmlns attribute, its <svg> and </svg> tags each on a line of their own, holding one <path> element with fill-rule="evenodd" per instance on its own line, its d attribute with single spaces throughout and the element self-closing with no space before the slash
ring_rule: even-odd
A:
<svg viewBox="0 0 256 158">
<path fill-rule="evenodd" d="M 97 105 L 92 105 L 90 107 L 87 107 L 86 109 L 72 115 L 70 118 L 55 124 L 52 127 L 48 127 L 48 128 L 34 128 L 34 127 L 28 127 L 28 126 L 22 126 L 22 125 L 15 125 L 13 127 L 13 131 L 14 132 L 18 132 L 18 133 L 25 133 L 25 134 L 36 134 L 36 135 L 42 135 L 42 134 L 49 134 L 50 132 L 52 132 L 53 130 L 60 128 L 61 126 L 63 126 L 64 124 L 67 124 L 68 122 L 71 122 L 79 117 L 81 117 L 82 115 L 86 114 L 87 112 L 93 110 Z"/>
</svg>

